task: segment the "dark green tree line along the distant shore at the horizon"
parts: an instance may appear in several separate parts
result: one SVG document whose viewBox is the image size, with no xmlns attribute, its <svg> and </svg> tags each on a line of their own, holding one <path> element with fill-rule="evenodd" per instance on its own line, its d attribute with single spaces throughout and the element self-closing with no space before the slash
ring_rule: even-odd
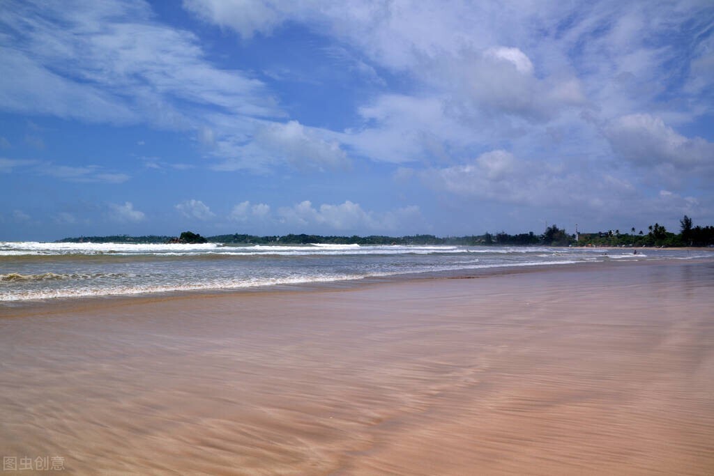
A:
<svg viewBox="0 0 714 476">
<path fill-rule="evenodd" d="M 667 231 L 659 223 L 645 230 L 635 227 L 628 231 L 607 230 L 595 233 L 568 233 L 556 225 L 548 226 L 540 235 L 533 231 L 510 235 L 506 232 L 472 236 L 411 235 L 411 236 L 322 236 L 289 234 L 283 236 L 255 236 L 241 233 L 203 237 L 184 231 L 180 236 L 81 236 L 64 238 L 57 243 L 224 243 L 228 245 L 546 245 L 546 246 L 603 246 L 603 247 L 683 247 L 714 246 L 714 226 L 694 226 L 688 216 L 680 220 L 679 233 Z"/>
</svg>

